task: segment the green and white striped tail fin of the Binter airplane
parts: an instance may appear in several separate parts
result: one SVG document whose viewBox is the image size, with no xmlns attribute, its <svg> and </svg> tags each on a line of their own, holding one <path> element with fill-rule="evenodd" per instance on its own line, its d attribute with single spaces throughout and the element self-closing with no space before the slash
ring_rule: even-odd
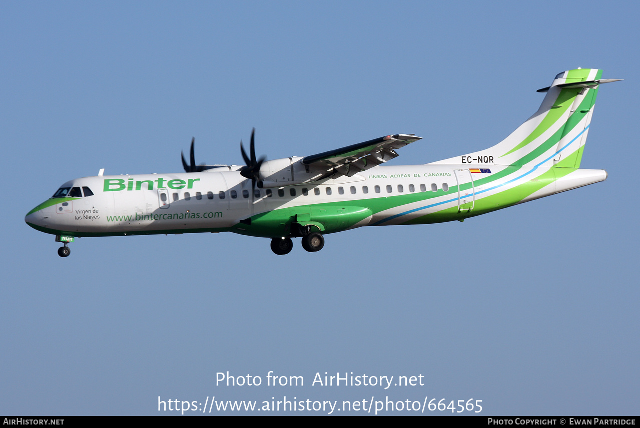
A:
<svg viewBox="0 0 640 428">
<path fill-rule="evenodd" d="M 533 164 L 578 168 L 589 132 L 602 70 L 578 68 L 559 73 L 538 111 L 495 146 L 435 164 Z"/>
</svg>

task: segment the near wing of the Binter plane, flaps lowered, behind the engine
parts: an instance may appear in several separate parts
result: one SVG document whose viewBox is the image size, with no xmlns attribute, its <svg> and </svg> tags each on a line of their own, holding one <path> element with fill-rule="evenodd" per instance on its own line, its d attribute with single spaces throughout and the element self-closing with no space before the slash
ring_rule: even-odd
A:
<svg viewBox="0 0 640 428">
<path fill-rule="evenodd" d="M 324 171 L 323 176 L 339 174 L 351 177 L 387 160 L 397 157 L 396 149 L 422 137 L 413 134 L 387 135 L 303 158 L 302 164 L 313 171 Z"/>
</svg>

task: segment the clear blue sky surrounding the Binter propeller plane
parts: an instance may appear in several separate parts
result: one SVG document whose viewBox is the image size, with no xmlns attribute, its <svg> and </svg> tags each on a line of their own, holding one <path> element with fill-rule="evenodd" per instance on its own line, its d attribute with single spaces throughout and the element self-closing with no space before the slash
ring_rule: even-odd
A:
<svg viewBox="0 0 640 428">
<path fill-rule="evenodd" d="M 286 395 L 637 415 L 639 12 L 4 2 L 0 414 L 157 415 L 159 396 Z M 198 162 L 240 164 L 253 126 L 270 159 L 396 133 L 424 137 L 396 165 L 486 148 L 577 67 L 625 79 L 600 90 L 582 159 L 607 181 L 464 223 L 365 227 L 285 257 L 234 234 L 82 238 L 67 259 L 24 224 L 61 183 L 100 168 L 181 171 L 191 137 Z M 263 385 L 216 386 L 227 371 Z M 268 387 L 269 371 L 305 385 Z M 425 385 L 312 386 L 317 372 Z"/>
</svg>

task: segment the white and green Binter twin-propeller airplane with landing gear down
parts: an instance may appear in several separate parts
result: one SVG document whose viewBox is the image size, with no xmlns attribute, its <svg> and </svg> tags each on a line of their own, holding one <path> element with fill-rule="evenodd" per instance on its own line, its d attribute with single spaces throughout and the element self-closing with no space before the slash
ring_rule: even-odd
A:
<svg viewBox="0 0 640 428">
<path fill-rule="evenodd" d="M 604 181 L 580 169 L 602 70 L 556 75 L 540 108 L 506 139 L 429 164 L 381 165 L 421 137 L 392 134 L 306 157 L 255 156 L 255 129 L 244 165 L 196 165 L 185 172 L 77 178 L 25 217 L 63 243 L 84 236 L 232 232 L 271 239 L 278 255 L 291 238 L 316 252 L 324 235 L 355 227 L 463 221 Z"/>
</svg>

